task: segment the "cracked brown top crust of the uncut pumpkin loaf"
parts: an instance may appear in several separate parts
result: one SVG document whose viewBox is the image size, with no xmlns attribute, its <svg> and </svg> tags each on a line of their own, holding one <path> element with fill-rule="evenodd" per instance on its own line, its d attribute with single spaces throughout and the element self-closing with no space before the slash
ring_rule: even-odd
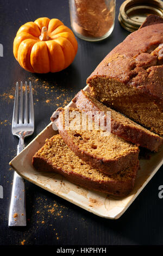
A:
<svg viewBox="0 0 163 256">
<path fill-rule="evenodd" d="M 102 60 L 87 78 L 89 86 L 95 77 L 114 78 L 163 101 L 163 60 L 151 54 L 163 44 L 163 23 L 147 26 L 148 23 L 128 35 Z"/>
</svg>

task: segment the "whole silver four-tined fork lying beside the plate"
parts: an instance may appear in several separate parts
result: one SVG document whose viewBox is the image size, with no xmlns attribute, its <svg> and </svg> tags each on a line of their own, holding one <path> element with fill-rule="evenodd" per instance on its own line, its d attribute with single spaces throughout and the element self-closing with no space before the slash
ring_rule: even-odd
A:
<svg viewBox="0 0 163 256">
<path fill-rule="evenodd" d="M 24 149 L 24 138 L 34 132 L 34 108 L 32 84 L 29 82 L 29 121 L 28 121 L 28 92 L 25 87 L 24 120 L 23 120 L 23 83 L 20 89 L 20 111 L 18 113 L 18 82 L 16 83 L 14 111 L 12 117 L 12 134 L 19 138 L 17 155 Z M 12 194 L 9 210 L 9 227 L 26 226 L 26 193 L 23 178 L 14 172 Z"/>
</svg>

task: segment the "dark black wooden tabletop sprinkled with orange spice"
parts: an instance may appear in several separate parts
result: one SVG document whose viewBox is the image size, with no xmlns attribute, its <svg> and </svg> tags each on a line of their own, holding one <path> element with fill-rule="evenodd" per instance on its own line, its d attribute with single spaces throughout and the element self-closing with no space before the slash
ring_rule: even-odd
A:
<svg viewBox="0 0 163 256">
<path fill-rule="evenodd" d="M 24 245 L 162 245 L 163 199 L 158 197 L 158 187 L 163 185 L 163 168 L 116 221 L 95 216 L 26 181 L 27 227 L 8 227 L 13 177 L 9 161 L 16 155 L 18 143 L 11 133 L 16 81 L 32 81 L 34 88 L 35 132 L 26 140 L 28 144 L 49 123 L 52 112 L 85 87 L 86 78 L 97 64 L 129 34 L 117 20 L 121 3 L 117 1 L 115 28 L 108 39 L 92 43 L 77 38 L 78 53 L 70 67 L 58 74 L 39 75 L 30 74 L 16 62 L 12 53 L 14 37 L 21 25 L 43 16 L 57 17 L 70 27 L 68 1 L 1 1 L 0 43 L 4 56 L 0 57 L 0 245 L 21 245 L 23 240 Z"/>
</svg>

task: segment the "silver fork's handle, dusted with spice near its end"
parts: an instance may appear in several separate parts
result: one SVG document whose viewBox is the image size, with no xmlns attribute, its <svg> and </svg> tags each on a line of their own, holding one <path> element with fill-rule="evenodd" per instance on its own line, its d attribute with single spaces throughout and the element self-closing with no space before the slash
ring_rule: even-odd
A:
<svg viewBox="0 0 163 256">
<path fill-rule="evenodd" d="M 24 144 L 17 145 L 17 155 L 24 149 Z M 9 210 L 9 227 L 26 226 L 26 191 L 24 179 L 14 172 L 11 203 Z"/>
</svg>

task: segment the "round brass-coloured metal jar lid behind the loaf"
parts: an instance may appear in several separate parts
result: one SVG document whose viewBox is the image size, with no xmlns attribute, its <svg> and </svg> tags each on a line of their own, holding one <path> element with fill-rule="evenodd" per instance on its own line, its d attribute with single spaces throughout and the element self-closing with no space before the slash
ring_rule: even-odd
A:
<svg viewBox="0 0 163 256">
<path fill-rule="evenodd" d="M 118 21 L 127 31 L 138 29 L 150 14 L 163 17 L 161 0 L 127 0 L 120 7 Z"/>
</svg>

